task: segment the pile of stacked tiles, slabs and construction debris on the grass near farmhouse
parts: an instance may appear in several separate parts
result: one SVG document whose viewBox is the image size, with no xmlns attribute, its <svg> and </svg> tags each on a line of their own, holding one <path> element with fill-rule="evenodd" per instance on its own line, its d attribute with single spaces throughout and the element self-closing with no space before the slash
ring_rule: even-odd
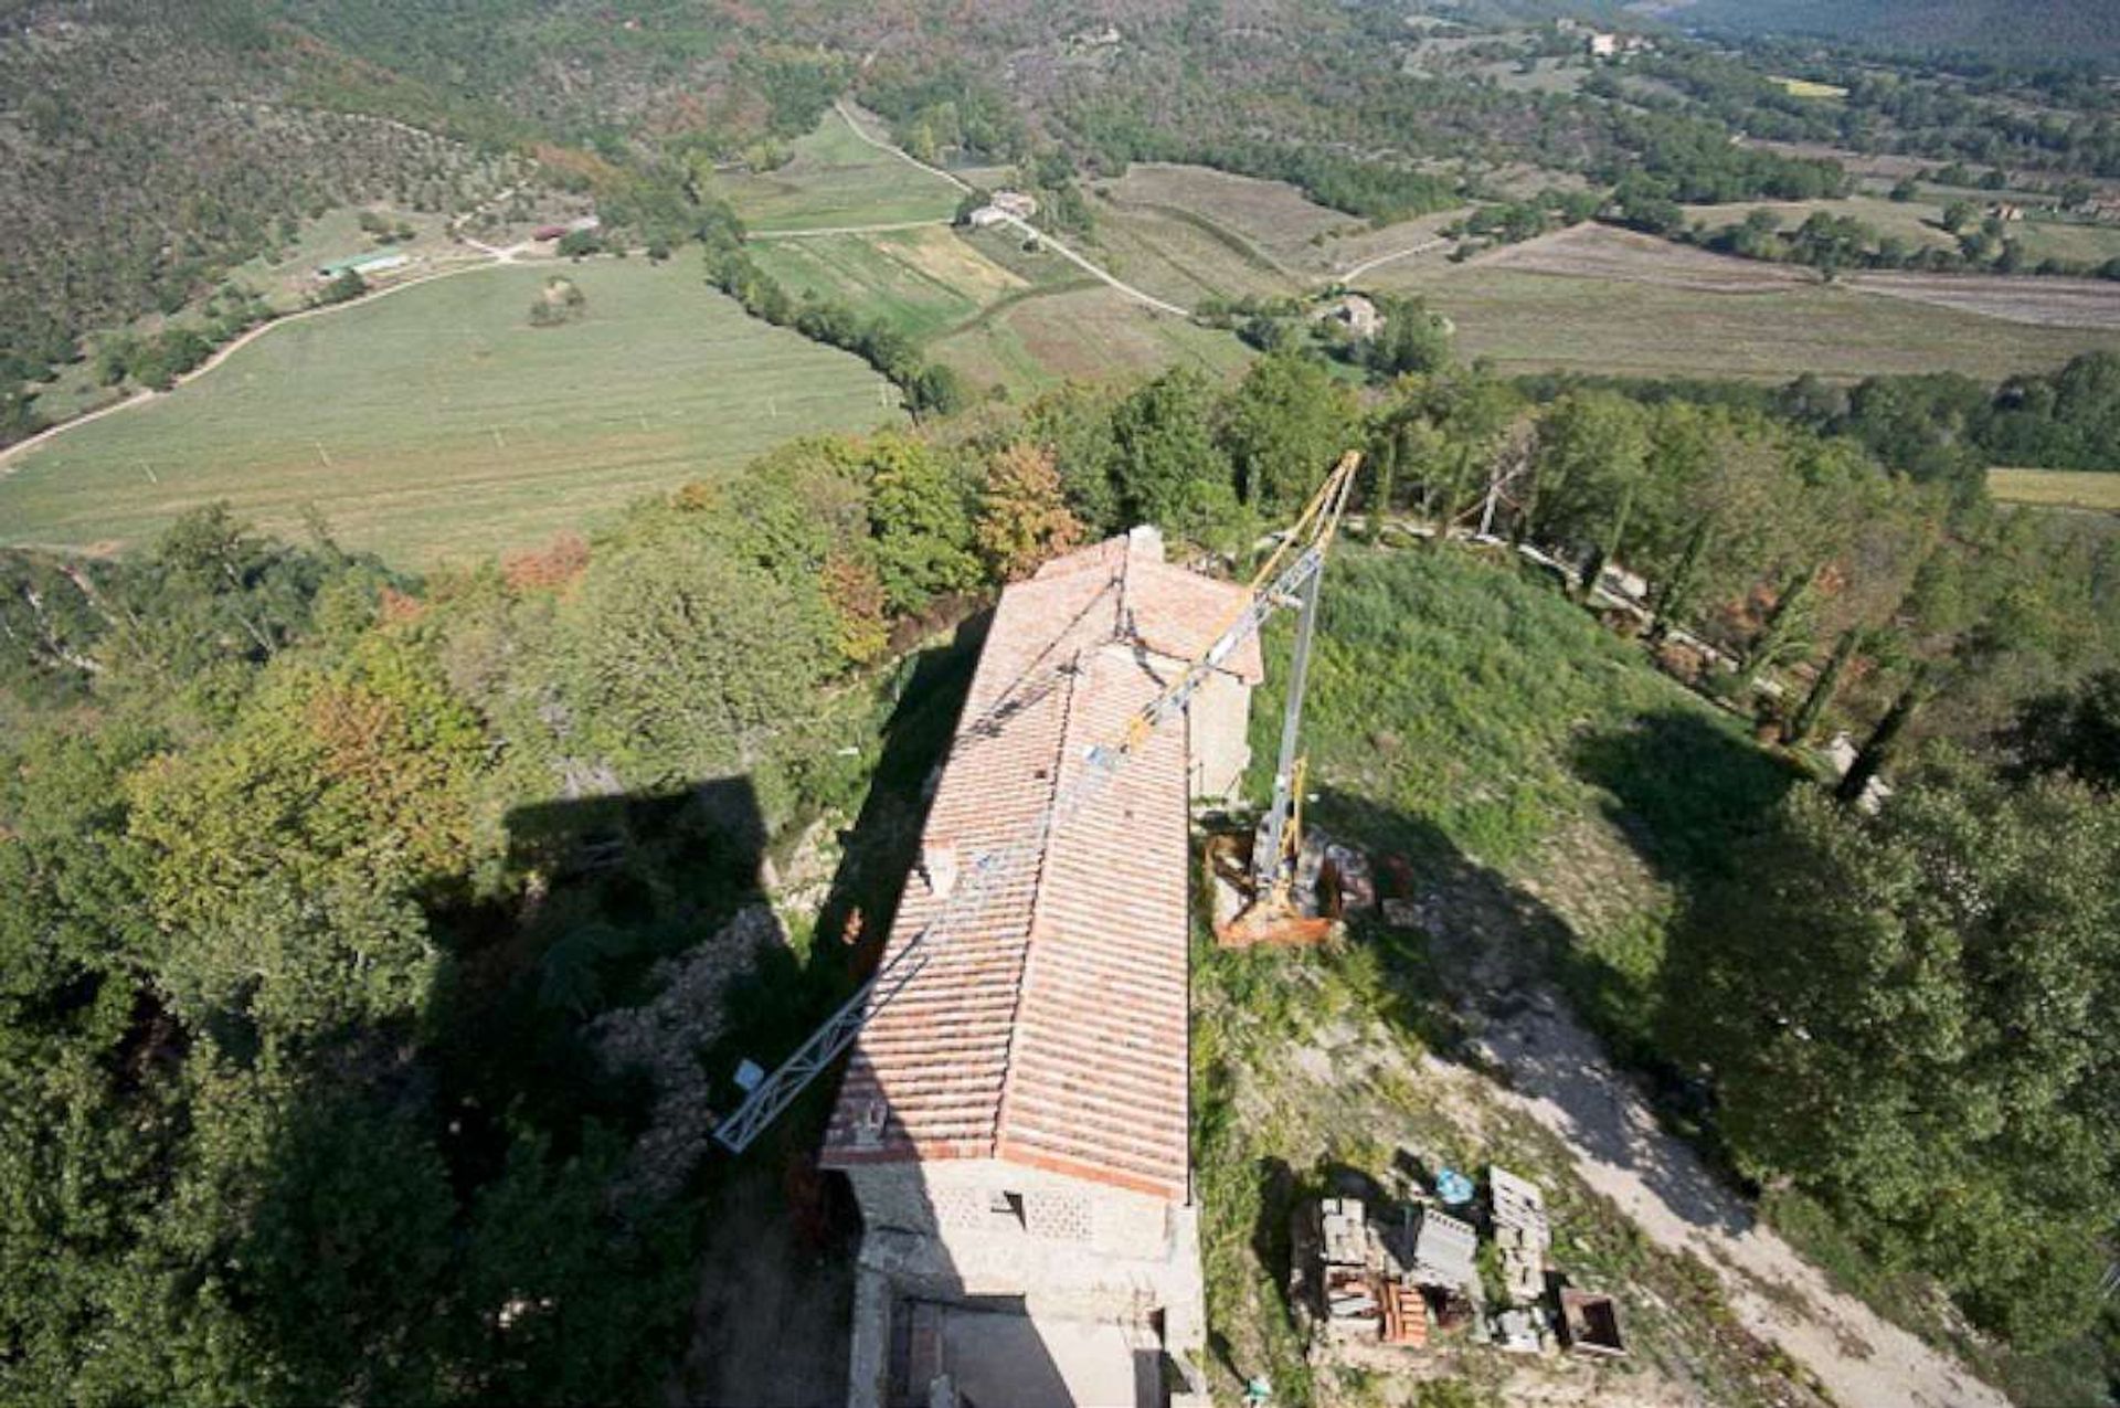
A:
<svg viewBox="0 0 2120 1408">
<path fill-rule="evenodd" d="M 1482 1243 L 1492 1249 L 1482 1274 Z M 1406 1368 L 1454 1344 L 1520 1355 L 1626 1355 L 1611 1296 L 1567 1285 L 1535 1183 L 1488 1168 L 1486 1192 L 1444 1168 L 1403 1200 L 1323 1198 L 1295 1228 L 1291 1302 L 1312 1361 Z"/>
</svg>

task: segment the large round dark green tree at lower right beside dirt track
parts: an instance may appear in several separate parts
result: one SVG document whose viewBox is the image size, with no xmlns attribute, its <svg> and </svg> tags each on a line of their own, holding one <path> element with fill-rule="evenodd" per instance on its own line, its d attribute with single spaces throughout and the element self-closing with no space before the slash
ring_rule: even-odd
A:
<svg viewBox="0 0 2120 1408">
<path fill-rule="evenodd" d="M 2120 816 L 2084 787 L 1940 755 L 1876 816 L 1791 793 L 1666 965 L 1668 1035 L 1741 1162 L 2020 1349 L 2095 1315 L 2120 1215 L 2116 867 Z"/>
</svg>

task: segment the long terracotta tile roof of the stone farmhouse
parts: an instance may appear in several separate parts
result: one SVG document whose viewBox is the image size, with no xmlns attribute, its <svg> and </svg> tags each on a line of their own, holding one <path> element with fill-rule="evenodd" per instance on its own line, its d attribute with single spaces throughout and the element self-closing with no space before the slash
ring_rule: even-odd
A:
<svg viewBox="0 0 2120 1408">
<path fill-rule="evenodd" d="M 1037 838 L 1096 742 L 1204 651 L 1242 587 L 1111 539 L 1001 594 L 929 810 L 929 874 L 1015 857 L 977 903 L 907 878 L 886 961 L 926 967 L 863 1028 L 825 1164 L 1001 1158 L 1181 1200 L 1187 1183 L 1187 740 L 1164 727 Z M 1232 672 L 1259 676 L 1257 645 Z M 948 888 L 948 886 L 946 886 Z M 865 1120 L 882 1117 L 880 1132 Z"/>
</svg>

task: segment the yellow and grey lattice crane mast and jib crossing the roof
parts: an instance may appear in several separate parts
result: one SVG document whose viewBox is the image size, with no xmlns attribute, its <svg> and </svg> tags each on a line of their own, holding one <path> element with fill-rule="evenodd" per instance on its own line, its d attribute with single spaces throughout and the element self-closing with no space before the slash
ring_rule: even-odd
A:
<svg viewBox="0 0 2120 1408">
<path fill-rule="evenodd" d="M 969 918 L 979 914 L 986 903 L 986 895 L 996 882 L 1013 876 L 1018 865 L 1035 865 L 1037 857 L 1045 852 L 1045 842 L 1056 827 L 1088 806 L 1105 789 L 1105 785 L 1111 782 L 1113 774 L 1126 765 L 1134 751 L 1151 734 L 1155 734 L 1158 727 L 1174 715 L 1185 712 L 1185 706 L 1208 681 L 1208 676 L 1219 670 L 1230 655 L 1238 651 L 1238 647 L 1259 634 L 1259 628 L 1270 615 L 1274 615 L 1274 611 L 1297 604 L 1302 611 L 1297 626 L 1297 657 L 1289 681 L 1291 693 L 1289 715 L 1283 723 L 1280 736 L 1280 765 L 1274 772 L 1274 806 L 1261 823 L 1261 840 L 1264 829 L 1272 825 L 1272 833 L 1276 838 L 1274 844 L 1280 844 L 1278 838 L 1285 833 L 1293 802 L 1291 755 L 1302 712 L 1302 672 L 1308 664 L 1310 630 L 1317 621 L 1319 577 L 1325 570 L 1325 551 L 1331 547 L 1331 539 L 1338 532 L 1340 515 L 1346 509 L 1348 490 L 1355 483 L 1355 469 L 1359 464 L 1361 454 L 1353 450 L 1340 456 L 1340 464 L 1325 477 L 1325 483 L 1317 494 L 1312 494 L 1302 515 L 1287 528 L 1287 532 L 1280 534 L 1280 543 L 1253 577 L 1251 594 L 1244 606 L 1221 630 L 1221 634 L 1215 636 L 1213 645 L 1185 666 L 1183 674 L 1158 691 L 1153 700 L 1143 704 L 1115 738 L 1088 749 L 1083 753 L 1085 765 L 1081 774 L 1077 774 L 1077 778 L 1060 795 L 1056 795 L 1015 840 L 975 857 L 969 867 L 971 874 L 950 893 L 943 910 L 931 918 L 903 948 L 899 948 L 899 952 L 895 952 L 876 971 L 876 975 L 861 986 L 859 992 L 846 999 L 835 1014 L 810 1033 L 810 1037 L 795 1048 L 793 1056 L 782 1060 L 772 1073 L 759 1077 L 744 1094 L 744 1103 L 714 1126 L 714 1139 L 719 1139 L 731 1154 L 748 1149 L 759 1132 L 778 1120 L 780 1113 L 795 1103 L 795 1096 L 799 1096 L 810 1081 L 823 1075 L 831 1062 L 854 1043 L 869 1018 L 873 1018 L 886 1003 L 890 1003 L 890 999 L 903 992 L 905 986 L 920 975 L 920 969 L 926 967 L 937 948 L 950 941 L 952 929 L 962 927 Z"/>
</svg>

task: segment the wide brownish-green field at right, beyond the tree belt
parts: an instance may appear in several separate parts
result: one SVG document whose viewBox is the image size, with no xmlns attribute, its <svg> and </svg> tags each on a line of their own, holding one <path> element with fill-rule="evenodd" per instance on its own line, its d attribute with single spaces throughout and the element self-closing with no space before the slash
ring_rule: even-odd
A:
<svg viewBox="0 0 2120 1408">
<path fill-rule="evenodd" d="M 1823 284 L 1711 291 L 1469 263 L 1420 269 L 1399 286 L 1450 314 L 1461 356 L 1488 356 L 1503 371 L 2001 380 L 2120 344 L 2112 331 L 2006 322 Z"/>
</svg>

